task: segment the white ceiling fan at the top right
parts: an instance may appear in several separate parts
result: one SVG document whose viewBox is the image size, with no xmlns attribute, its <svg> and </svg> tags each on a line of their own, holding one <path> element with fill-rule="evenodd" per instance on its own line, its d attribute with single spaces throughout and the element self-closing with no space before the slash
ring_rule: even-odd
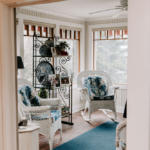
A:
<svg viewBox="0 0 150 150">
<path fill-rule="evenodd" d="M 96 11 L 96 12 L 92 12 L 92 13 L 89 13 L 89 14 L 95 14 L 95 13 L 100 13 L 100 12 L 110 11 L 110 10 L 119 10 L 117 13 L 115 13 L 112 16 L 112 18 L 116 18 L 116 17 L 120 16 L 123 12 L 128 11 L 128 0 L 120 0 L 120 4 L 121 5 L 115 6 L 115 8 L 112 8 L 112 9 Z"/>
</svg>

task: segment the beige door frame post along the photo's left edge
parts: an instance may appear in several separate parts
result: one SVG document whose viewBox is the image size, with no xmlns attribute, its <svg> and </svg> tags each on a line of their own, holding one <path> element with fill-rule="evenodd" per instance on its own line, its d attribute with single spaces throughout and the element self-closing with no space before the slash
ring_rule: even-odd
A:
<svg viewBox="0 0 150 150">
<path fill-rule="evenodd" d="M 13 8 L 0 3 L 0 150 L 18 150 L 13 14 Z"/>
</svg>

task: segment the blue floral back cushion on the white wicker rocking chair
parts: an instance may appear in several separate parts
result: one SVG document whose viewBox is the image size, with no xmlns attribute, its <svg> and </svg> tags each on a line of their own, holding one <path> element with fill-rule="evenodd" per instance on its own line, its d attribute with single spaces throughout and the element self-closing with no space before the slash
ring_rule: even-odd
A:
<svg viewBox="0 0 150 150">
<path fill-rule="evenodd" d="M 103 97 L 107 95 L 107 86 L 101 77 L 87 77 L 84 79 L 83 86 L 88 89 L 91 97 Z"/>
</svg>

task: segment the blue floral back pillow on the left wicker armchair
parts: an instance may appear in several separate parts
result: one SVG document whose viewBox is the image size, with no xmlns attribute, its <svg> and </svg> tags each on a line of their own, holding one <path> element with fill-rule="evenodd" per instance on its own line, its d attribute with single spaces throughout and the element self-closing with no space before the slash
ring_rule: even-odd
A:
<svg viewBox="0 0 150 150">
<path fill-rule="evenodd" d="M 36 97 L 36 95 L 29 86 L 22 86 L 21 88 L 19 88 L 18 92 L 21 95 L 22 102 L 26 106 L 40 106 L 39 99 Z"/>
</svg>

